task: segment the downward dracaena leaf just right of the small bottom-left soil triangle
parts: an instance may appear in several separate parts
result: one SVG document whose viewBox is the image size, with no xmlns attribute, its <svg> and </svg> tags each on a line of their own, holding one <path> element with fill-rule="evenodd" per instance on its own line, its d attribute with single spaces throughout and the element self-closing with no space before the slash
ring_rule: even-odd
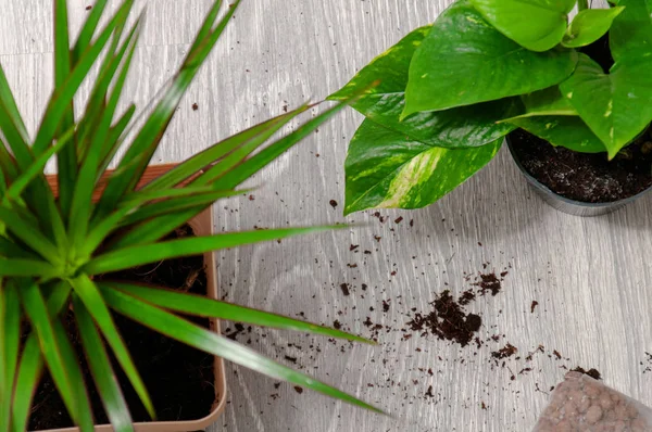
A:
<svg viewBox="0 0 652 432">
<path fill-rule="evenodd" d="M 79 403 L 75 401 L 73 385 L 65 368 L 61 347 L 57 343 L 54 329 L 40 290 L 34 282 L 26 282 L 18 288 L 18 293 L 21 294 L 25 313 L 29 317 L 29 321 L 38 335 L 41 353 L 57 384 L 57 389 L 59 389 L 61 398 L 73 420 L 79 423 Z"/>
</svg>

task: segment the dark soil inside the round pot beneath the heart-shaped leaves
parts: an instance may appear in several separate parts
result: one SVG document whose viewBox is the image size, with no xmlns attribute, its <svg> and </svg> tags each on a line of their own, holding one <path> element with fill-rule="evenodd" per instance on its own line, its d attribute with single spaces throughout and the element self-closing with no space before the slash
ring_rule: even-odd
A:
<svg viewBox="0 0 652 432">
<path fill-rule="evenodd" d="M 521 165 L 553 192 L 587 203 L 624 200 L 652 186 L 650 130 L 609 161 L 606 153 L 578 153 L 553 147 L 525 130 L 510 134 Z"/>
</svg>

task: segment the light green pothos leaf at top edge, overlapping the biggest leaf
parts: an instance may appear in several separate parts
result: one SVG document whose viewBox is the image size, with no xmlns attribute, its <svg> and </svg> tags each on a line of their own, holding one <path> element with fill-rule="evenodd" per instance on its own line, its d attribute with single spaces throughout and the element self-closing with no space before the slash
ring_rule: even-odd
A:
<svg viewBox="0 0 652 432">
<path fill-rule="evenodd" d="M 532 51 L 548 51 L 566 31 L 576 0 L 472 0 L 500 33 Z"/>
</svg>

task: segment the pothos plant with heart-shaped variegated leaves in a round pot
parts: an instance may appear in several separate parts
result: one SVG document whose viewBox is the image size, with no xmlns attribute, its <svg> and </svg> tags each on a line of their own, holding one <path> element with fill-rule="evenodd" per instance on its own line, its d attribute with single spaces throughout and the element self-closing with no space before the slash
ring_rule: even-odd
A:
<svg viewBox="0 0 652 432">
<path fill-rule="evenodd" d="M 330 96 L 380 80 L 353 104 L 366 119 L 349 147 L 344 213 L 426 206 L 505 136 L 528 180 L 568 213 L 606 213 L 648 191 L 652 4 L 605 7 L 457 0 L 372 61 Z"/>
</svg>

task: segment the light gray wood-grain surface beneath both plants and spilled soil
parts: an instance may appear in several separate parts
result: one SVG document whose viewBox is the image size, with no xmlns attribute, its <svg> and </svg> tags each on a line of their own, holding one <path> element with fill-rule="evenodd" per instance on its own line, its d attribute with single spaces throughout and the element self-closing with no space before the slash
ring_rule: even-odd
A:
<svg viewBox="0 0 652 432">
<path fill-rule="evenodd" d="M 178 161 L 285 105 L 326 97 L 412 28 L 434 21 L 448 2 L 243 1 L 183 101 L 156 162 Z M 0 0 L 0 62 L 32 129 L 51 90 L 50 3 Z M 178 65 L 209 3 L 150 1 L 127 89 L 139 106 Z M 90 1 L 70 4 L 78 25 Z M 606 384 L 652 405 L 652 373 L 643 373 L 645 352 L 652 352 L 650 199 L 605 217 L 561 214 L 532 194 L 503 149 L 479 175 L 428 208 L 383 211 L 384 224 L 371 213 L 344 218 L 342 166 L 360 120 L 347 111 L 256 177 L 253 201 L 220 203 L 215 215 L 218 230 L 363 225 L 221 253 L 218 271 L 225 298 L 239 304 L 302 313 L 327 325 L 337 319 L 367 336 L 366 317 L 388 326 L 377 346 L 268 330 L 238 340 L 251 339 L 252 347 L 289 365 L 285 356 L 296 358 L 302 370 L 391 416 L 299 394 L 286 384 L 276 389 L 274 380 L 229 366 L 228 406 L 211 431 L 529 431 L 547 403 L 544 392 L 563 379 L 563 367 L 578 365 L 598 368 Z M 404 219 L 396 224 L 399 216 Z M 361 252 L 350 251 L 351 244 Z M 436 293 L 471 288 L 473 278 L 466 281 L 465 275 L 485 263 L 499 271 L 509 267 L 509 275 L 500 294 L 481 297 L 469 310 L 484 317 L 482 339 L 504 338 L 480 348 L 417 334 L 403 340 L 411 308 L 428 312 Z M 349 296 L 341 283 L 350 283 Z M 390 301 L 387 313 L 383 300 Z M 531 314 L 535 300 L 539 306 Z M 505 342 L 519 350 L 521 359 L 497 367 L 490 353 Z M 527 363 L 524 357 L 539 345 L 544 353 Z M 555 359 L 553 350 L 564 358 Z M 510 370 L 525 367 L 532 370 L 510 379 Z M 425 396 L 429 385 L 431 398 Z"/>
</svg>

